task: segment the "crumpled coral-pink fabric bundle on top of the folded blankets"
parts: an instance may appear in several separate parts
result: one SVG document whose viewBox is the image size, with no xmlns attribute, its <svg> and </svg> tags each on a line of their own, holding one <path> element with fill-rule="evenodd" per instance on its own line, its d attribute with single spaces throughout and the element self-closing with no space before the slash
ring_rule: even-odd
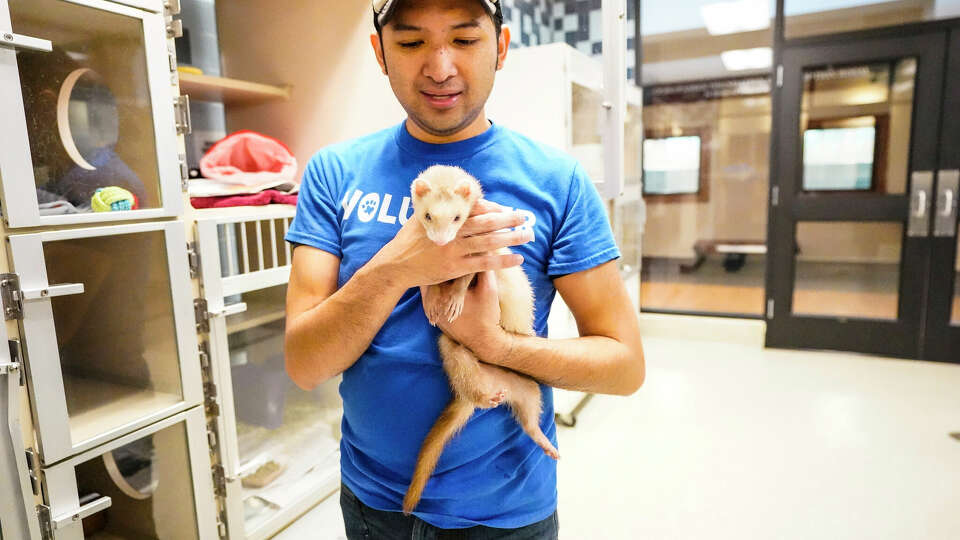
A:
<svg viewBox="0 0 960 540">
<path fill-rule="evenodd" d="M 253 186 L 296 182 L 297 159 L 282 142 L 250 130 L 224 137 L 200 160 L 204 178 Z"/>
</svg>

